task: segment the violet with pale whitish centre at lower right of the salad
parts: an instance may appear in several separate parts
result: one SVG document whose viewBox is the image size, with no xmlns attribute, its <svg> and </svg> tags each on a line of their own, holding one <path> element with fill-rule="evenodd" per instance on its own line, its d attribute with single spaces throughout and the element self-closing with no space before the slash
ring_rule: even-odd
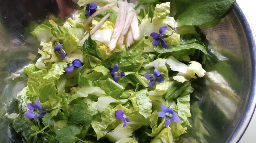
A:
<svg viewBox="0 0 256 143">
<path fill-rule="evenodd" d="M 161 104 L 161 108 L 163 111 L 158 112 L 158 116 L 165 118 L 165 127 L 168 127 L 171 124 L 171 120 L 175 122 L 181 122 L 178 114 L 173 111 L 172 108 L 164 106 Z"/>
</svg>

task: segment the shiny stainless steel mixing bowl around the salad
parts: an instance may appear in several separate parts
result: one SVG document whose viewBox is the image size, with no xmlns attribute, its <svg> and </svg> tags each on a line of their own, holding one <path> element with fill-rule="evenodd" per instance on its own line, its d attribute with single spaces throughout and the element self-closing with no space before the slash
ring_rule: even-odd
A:
<svg viewBox="0 0 256 143">
<path fill-rule="evenodd" d="M 30 32 L 54 19 L 62 23 L 75 9 L 69 0 L 0 0 L 0 114 L 26 86 L 23 68 L 39 57 L 39 41 Z M 37 23 L 37 24 L 36 24 Z M 238 3 L 215 27 L 203 28 L 209 40 L 206 76 L 194 83 L 187 134 L 178 141 L 233 143 L 243 135 L 256 105 L 255 35 Z M 12 74 L 20 74 L 13 78 Z M 7 108 L 7 109 L 6 109 Z M 10 120 L 0 118 L 0 142 L 20 142 L 9 134 Z"/>
</svg>

